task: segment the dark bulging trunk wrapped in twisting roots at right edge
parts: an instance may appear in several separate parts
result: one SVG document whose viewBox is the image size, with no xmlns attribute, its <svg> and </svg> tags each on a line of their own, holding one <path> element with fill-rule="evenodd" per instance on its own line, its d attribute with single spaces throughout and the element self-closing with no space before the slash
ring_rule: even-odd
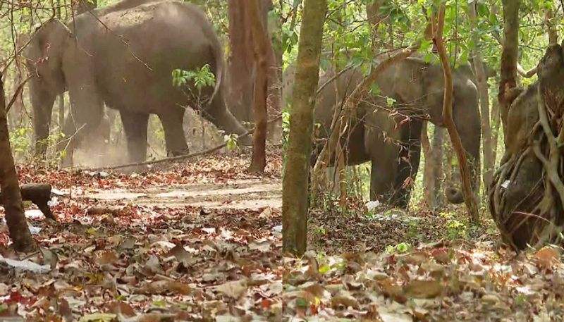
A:
<svg viewBox="0 0 564 322">
<path fill-rule="evenodd" d="M 504 158 L 490 185 L 490 211 L 503 240 L 515 249 L 564 240 L 564 160 L 560 157 L 564 129 L 560 97 L 563 95 L 558 90 L 551 92 L 541 80 L 537 86 L 538 121 L 523 142 L 520 154 Z"/>
</svg>

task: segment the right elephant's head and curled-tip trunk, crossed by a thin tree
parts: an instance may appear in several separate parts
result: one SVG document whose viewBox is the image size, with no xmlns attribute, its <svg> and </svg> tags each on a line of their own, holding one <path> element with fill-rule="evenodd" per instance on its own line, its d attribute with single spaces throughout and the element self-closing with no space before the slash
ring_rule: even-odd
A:
<svg viewBox="0 0 564 322">
<path fill-rule="evenodd" d="M 479 180 L 479 149 L 482 136 L 478 92 L 467 67 L 453 70 L 453 119 L 466 150 L 472 175 L 472 190 L 477 191 Z M 444 126 L 444 75 L 441 66 L 425 63 L 420 58 L 407 58 L 389 68 L 379 78 L 382 92 L 406 104 L 405 113 L 429 115 L 432 123 Z M 390 94 L 388 94 L 390 93 Z M 462 192 L 454 187 L 445 190 L 448 202 L 464 202 Z"/>
</svg>

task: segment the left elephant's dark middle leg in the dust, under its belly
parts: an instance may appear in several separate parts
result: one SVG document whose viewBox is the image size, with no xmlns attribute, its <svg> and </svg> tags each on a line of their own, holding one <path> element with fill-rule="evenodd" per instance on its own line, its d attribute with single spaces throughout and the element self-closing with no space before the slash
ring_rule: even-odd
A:
<svg viewBox="0 0 564 322">
<path fill-rule="evenodd" d="M 147 159 L 147 123 L 149 114 L 121 110 L 121 123 L 128 141 L 129 160 L 142 162 Z"/>
</svg>

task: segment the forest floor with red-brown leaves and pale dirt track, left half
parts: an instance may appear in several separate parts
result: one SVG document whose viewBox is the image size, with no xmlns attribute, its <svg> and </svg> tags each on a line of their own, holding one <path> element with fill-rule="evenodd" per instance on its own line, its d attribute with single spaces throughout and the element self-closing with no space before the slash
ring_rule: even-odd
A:
<svg viewBox="0 0 564 322">
<path fill-rule="evenodd" d="M 27 209 L 42 252 L 26 255 L 0 222 L 0 320 L 280 321 L 280 155 L 264 175 L 245 173 L 248 153 L 138 173 L 20 166 L 20 183 L 53 185 L 58 223 Z"/>
</svg>

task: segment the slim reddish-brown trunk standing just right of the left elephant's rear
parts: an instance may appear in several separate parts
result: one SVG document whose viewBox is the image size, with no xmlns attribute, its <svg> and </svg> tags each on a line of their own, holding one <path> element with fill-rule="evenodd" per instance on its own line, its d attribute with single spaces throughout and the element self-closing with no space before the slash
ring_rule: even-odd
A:
<svg viewBox="0 0 564 322">
<path fill-rule="evenodd" d="M 247 171 L 263 172 L 266 167 L 266 99 L 268 92 L 268 46 L 266 26 L 261 21 L 259 0 L 246 0 L 252 42 L 255 45 L 255 133 L 252 138 L 252 162 Z"/>
</svg>

